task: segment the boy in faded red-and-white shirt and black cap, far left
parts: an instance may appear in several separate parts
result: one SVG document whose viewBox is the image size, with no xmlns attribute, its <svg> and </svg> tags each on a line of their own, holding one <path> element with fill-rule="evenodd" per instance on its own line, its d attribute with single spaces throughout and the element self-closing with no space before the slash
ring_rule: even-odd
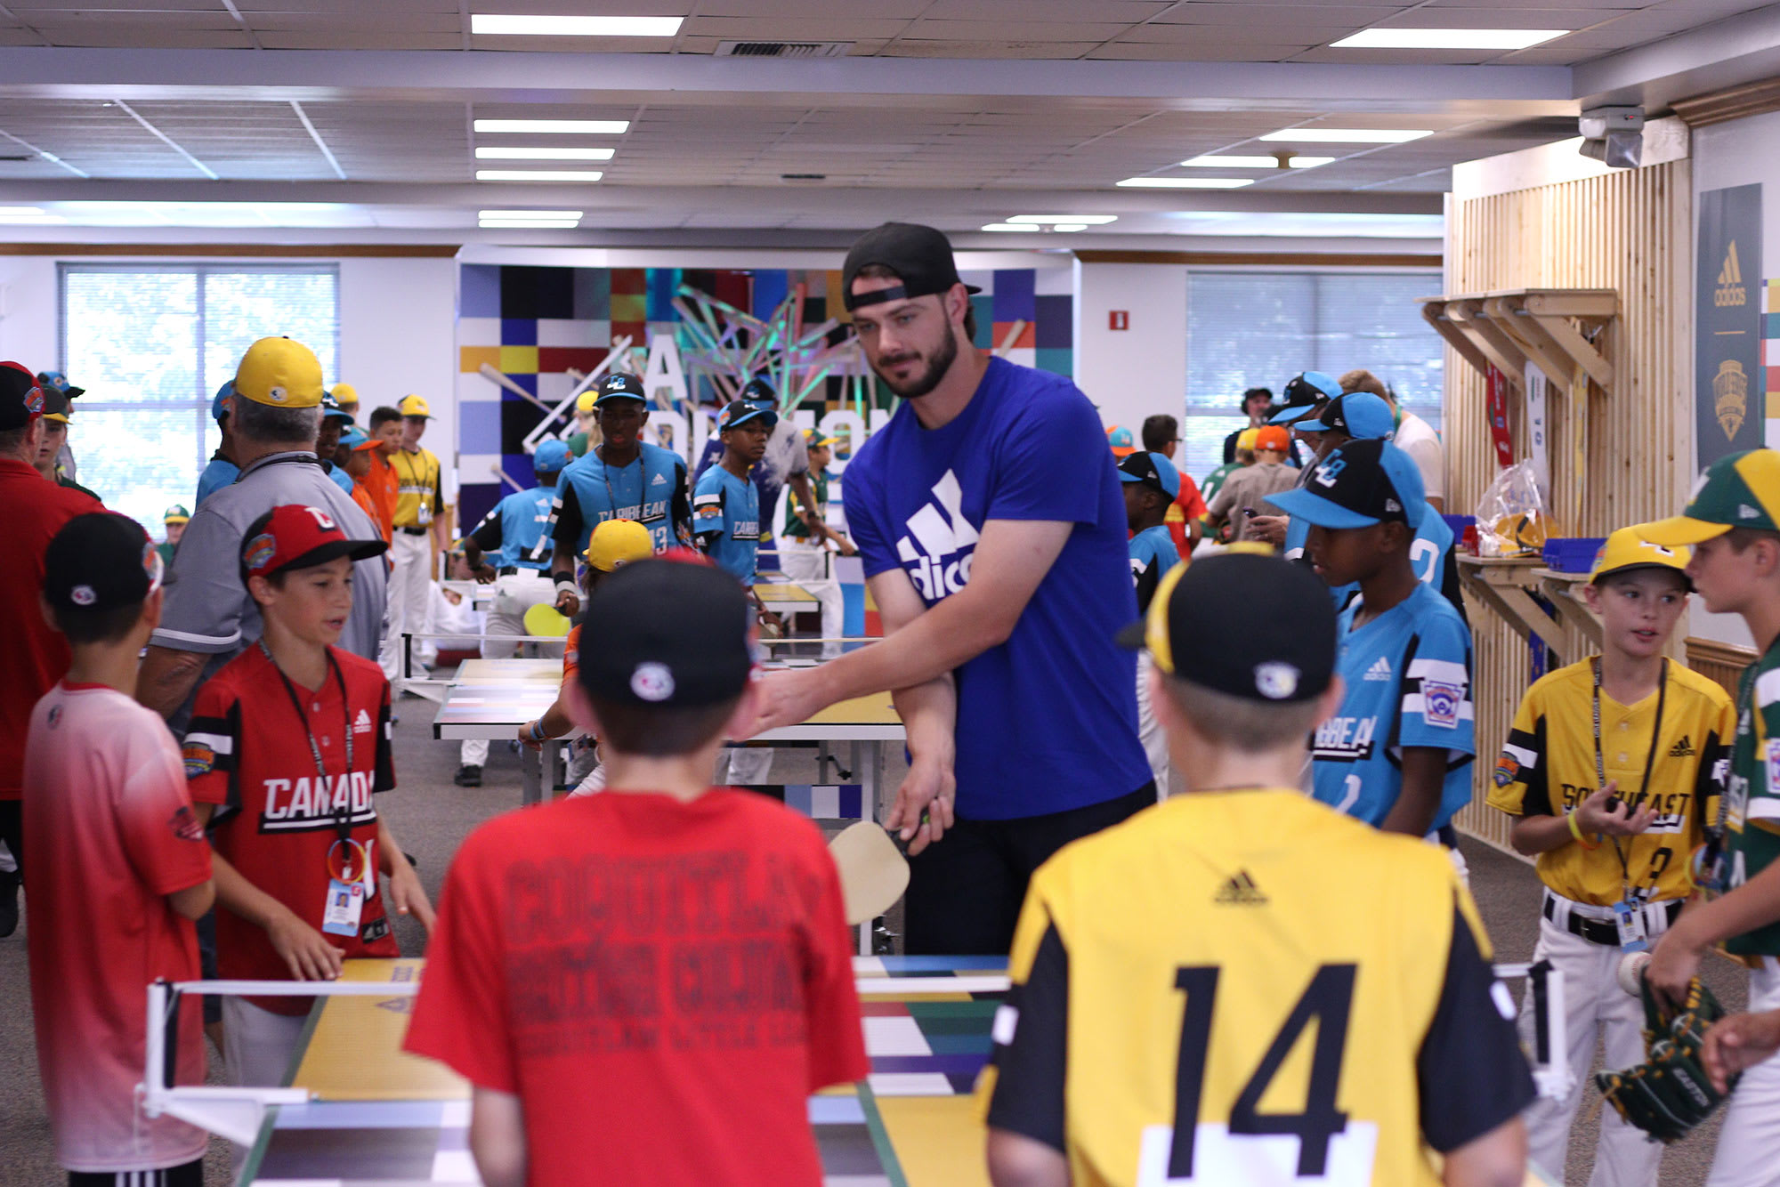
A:
<svg viewBox="0 0 1780 1187">
<path fill-rule="evenodd" d="M 198 979 L 192 920 L 215 899 L 180 751 L 134 699 L 160 553 L 134 520 L 75 516 L 44 553 L 43 607 L 73 650 L 25 740 L 30 1002 L 55 1157 L 75 1187 L 198 1187 L 208 1135 L 150 1121 L 135 1098 L 144 989 Z M 174 1077 L 203 1084 L 199 1000 L 182 1011 Z"/>
</svg>

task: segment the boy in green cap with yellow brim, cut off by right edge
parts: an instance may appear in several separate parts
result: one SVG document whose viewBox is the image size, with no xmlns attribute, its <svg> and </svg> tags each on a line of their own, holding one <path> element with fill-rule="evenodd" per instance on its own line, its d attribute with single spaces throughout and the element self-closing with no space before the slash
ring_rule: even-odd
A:
<svg viewBox="0 0 1780 1187">
<path fill-rule="evenodd" d="M 1719 457 L 1700 475 L 1682 514 L 1645 523 L 1638 534 L 1671 548 L 1693 545 L 1687 577 L 1700 600 L 1714 614 L 1743 616 L 1757 651 L 1737 685 L 1725 861 L 1707 879 L 1723 892 L 1682 911 L 1652 949 L 1645 975 L 1675 1002 L 1705 950 L 1723 943 L 1750 966 L 1750 1011 L 1773 1011 L 1780 1007 L 1780 452 Z M 1714 1050 L 1721 1055 L 1721 1046 Z M 1730 1094 L 1705 1182 L 1766 1187 L 1780 1173 L 1780 1059 L 1744 1055 L 1736 1064 L 1748 1071 Z"/>
</svg>

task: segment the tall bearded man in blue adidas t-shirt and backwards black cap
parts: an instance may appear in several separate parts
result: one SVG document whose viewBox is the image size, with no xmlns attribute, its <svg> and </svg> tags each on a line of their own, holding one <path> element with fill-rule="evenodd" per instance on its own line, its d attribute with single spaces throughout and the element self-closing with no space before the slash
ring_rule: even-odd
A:
<svg viewBox="0 0 1780 1187">
<path fill-rule="evenodd" d="M 1112 639 L 1137 612 L 1112 454 L 1075 384 L 970 345 L 940 231 L 867 231 L 840 292 L 904 400 L 844 495 L 886 639 L 769 673 L 756 726 L 892 690 L 910 772 L 885 826 L 910 842 L 908 950 L 1006 952 L 1032 870 L 1155 803 L 1136 666 Z"/>
</svg>

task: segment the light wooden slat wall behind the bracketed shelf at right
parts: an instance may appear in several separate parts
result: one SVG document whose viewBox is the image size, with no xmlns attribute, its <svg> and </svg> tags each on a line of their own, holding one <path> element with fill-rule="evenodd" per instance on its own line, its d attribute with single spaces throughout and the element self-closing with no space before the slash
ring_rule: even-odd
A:
<svg viewBox="0 0 1780 1187">
<path fill-rule="evenodd" d="M 1606 536 L 1673 514 L 1693 466 L 1693 169 L 1677 160 L 1600 178 L 1451 201 L 1447 292 L 1497 288 L 1614 288 L 1620 317 L 1607 329 L 1611 397 L 1591 390 L 1581 518 L 1559 536 Z M 1445 358 L 1447 511 L 1470 514 L 1495 477 L 1485 383 L 1451 349 Z M 1549 400 L 1554 502 L 1577 482 L 1568 400 Z M 1513 416 L 1515 456 L 1527 456 Z M 1493 614 L 1474 607 L 1477 765 L 1472 804 L 1456 824 L 1499 845 L 1508 819 L 1483 797 L 1495 753 L 1527 689 L 1529 651 Z M 1570 632 L 1565 632 L 1566 635 Z M 1686 632 L 1677 632 L 1684 635 Z M 1565 639 L 1565 657 L 1584 655 Z"/>
</svg>

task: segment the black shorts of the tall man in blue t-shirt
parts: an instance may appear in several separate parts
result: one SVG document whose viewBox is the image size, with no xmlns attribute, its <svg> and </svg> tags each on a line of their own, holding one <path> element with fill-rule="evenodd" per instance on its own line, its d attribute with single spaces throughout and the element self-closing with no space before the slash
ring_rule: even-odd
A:
<svg viewBox="0 0 1780 1187">
<path fill-rule="evenodd" d="M 904 950 L 910 956 L 1004 956 L 1032 872 L 1072 840 L 1155 803 L 1155 783 L 1086 808 L 1013 820 L 967 820 L 908 863 Z"/>
</svg>

